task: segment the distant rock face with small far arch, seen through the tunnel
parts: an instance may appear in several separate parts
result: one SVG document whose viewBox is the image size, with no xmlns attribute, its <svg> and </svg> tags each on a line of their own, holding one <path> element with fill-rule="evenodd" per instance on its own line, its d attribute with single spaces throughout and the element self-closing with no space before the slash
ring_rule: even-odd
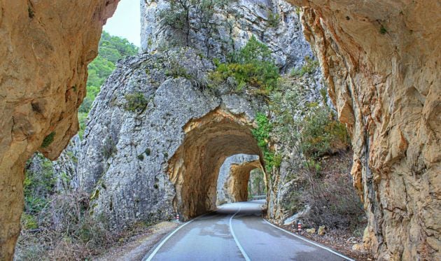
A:
<svg viewBox="0 0 441 261">
<path fill-rule="evenodd" d="M 239 154 L 228 157 L 219 169 L 216 205 L 246 201 L 250 172 L 256 168 L 262 168 L 258 155 Z"/>
</svg>

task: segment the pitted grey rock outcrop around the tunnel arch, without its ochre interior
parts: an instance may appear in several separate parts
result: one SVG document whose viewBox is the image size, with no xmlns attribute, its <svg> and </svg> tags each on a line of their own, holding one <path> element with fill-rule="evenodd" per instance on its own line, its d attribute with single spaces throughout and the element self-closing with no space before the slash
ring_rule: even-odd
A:
<svg viewBox="0 0 441 261">
<path fill-rule="evenodd" d="M 176 191 L 167 161 L 183 143 L 188 122 L 216 108 L 253 121 L 262 101 L 204 90 L 212 68 L 190 48 L 118 64 L 94 101 L 78 164 L 94 213 L 106 214 L 119 227 L 172 218 Z M 131 97 L 139 104 L 131 104 Z"/>
</svg>

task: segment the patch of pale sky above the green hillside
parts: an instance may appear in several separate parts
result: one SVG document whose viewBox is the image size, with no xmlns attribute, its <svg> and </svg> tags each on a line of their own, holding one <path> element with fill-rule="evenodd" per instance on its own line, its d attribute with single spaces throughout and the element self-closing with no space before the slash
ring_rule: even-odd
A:
<svg viewBox="0 0 441 261">
<path fill-rule="evenodd" d="M 130 43 L 141 46 L 141 18 L 139 15 L 139 0 L 121 0 L 116 12 L 110 17 L 104 31 L 113 36 L 127 38 Z"/>
</svg>

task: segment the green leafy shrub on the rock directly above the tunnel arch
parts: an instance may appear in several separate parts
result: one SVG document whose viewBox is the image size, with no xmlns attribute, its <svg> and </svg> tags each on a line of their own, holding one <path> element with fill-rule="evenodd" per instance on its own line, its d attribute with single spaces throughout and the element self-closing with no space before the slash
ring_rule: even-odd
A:
<svg viewBox="0 0 441 261">
<path fill-rule="evenodd" d="M 251 85 L 269 92 L 276 87 L 279 76 L 279 68 L 274 64 L 267 45 L 252 36 L 244 48 L 230 55 L 230 62 L 218 64 L 216 71 L 210 73 L 209 77 L 214 83 L 234 77 L 238 84 L 237 90 Z"/>
</svg>

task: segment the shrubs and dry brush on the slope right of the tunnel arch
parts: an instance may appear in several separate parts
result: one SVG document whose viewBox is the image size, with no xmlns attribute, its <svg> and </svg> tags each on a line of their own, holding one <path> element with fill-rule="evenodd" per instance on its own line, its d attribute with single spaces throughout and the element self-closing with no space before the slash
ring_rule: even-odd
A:
<svg viewBox="0 0 441 261">
<path fill-rule="evenodd" d="M 274 113 L 272 138 L 282 144 L 279 153 L 284 157 L 291 153 L 298 162 L 284 170 L 290 172 L 284 183 L 293 185 L 283 207 L 298 213 L 307 206 L 305 225 L 356 231 L 360 236 L 364 212 L 349 174 L 349 134 L 326 105 L 325 92 L 321 92 L 323 101 L 305 100 L 297 77 L 301 76 L 279 80 L 269 101 Z"/>
</svg>

